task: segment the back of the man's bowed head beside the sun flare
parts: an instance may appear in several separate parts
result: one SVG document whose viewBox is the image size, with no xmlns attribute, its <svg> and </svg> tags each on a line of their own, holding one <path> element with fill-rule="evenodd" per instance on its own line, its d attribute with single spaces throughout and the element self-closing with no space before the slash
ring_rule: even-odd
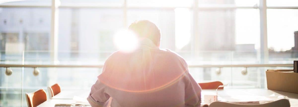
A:
<svg viewBox="0 0 298 107">
<path fill-rule="evenodd" d="M 135 21 L 129 27 L 139 38 L 149 38 L 156 46 L 160 44 L 160 31 L 156 25 L 148 20 Z"/>
</svg>

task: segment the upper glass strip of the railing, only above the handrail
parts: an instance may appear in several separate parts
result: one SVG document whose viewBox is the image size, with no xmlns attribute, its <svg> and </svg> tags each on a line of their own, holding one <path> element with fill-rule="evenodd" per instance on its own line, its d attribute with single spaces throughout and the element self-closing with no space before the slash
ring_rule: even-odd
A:
<svg viewBox="0 0 298 107">
<path fill-rule="evenodd" d="M 72 51 L 56 52 L 57 61 L 53 62 L 49 51 L 0 51 L 0 64 L 103 64 L 115 51 Z M 261 63 L 257 51 L 178 51 L 189 65 L 235 65 Z M 289 64 L 298 60 L 297 51 L 268 52 L 268 64 Z"/>
</svg>

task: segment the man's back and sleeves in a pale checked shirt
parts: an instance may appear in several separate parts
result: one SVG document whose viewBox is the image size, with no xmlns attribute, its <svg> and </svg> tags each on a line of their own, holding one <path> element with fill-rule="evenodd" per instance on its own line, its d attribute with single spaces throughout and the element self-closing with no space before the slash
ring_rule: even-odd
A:
<svg viewBox="0 0 298 107">
<path fill-rule="evenodd" d="M 169 107 L 200 106 L 201 88 L 188 72 L 183 58 L 149 41 L 134 52 L 113 53 L 92 86 L 92 106 Z"/>
</svg>

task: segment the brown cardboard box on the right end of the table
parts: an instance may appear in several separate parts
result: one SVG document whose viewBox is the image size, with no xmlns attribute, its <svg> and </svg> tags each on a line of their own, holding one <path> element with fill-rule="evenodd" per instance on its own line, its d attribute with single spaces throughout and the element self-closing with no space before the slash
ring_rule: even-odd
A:
<svg viewBox="0 0 298 107">
<path fill-rule="evenodd" d="M 266 78 L 268 89 L 298 93 L 298 73 L 267 70 Z"/>
</svg>

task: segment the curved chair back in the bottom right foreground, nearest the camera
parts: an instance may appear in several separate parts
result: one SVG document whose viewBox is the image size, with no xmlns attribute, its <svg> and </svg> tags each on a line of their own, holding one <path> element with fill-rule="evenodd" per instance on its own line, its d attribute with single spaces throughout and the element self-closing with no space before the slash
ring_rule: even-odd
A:
<svg viewBox="0 0 298 107">
<path fill-rule="evenodd" d="M 226 102 L 215 101 L 212 102 L 209 107 L 290 107 L 290 102 L 287 99 L 280 99 L 274 102 L 256 105 L 246 104 L 232 104 Z"/>
</svg>

